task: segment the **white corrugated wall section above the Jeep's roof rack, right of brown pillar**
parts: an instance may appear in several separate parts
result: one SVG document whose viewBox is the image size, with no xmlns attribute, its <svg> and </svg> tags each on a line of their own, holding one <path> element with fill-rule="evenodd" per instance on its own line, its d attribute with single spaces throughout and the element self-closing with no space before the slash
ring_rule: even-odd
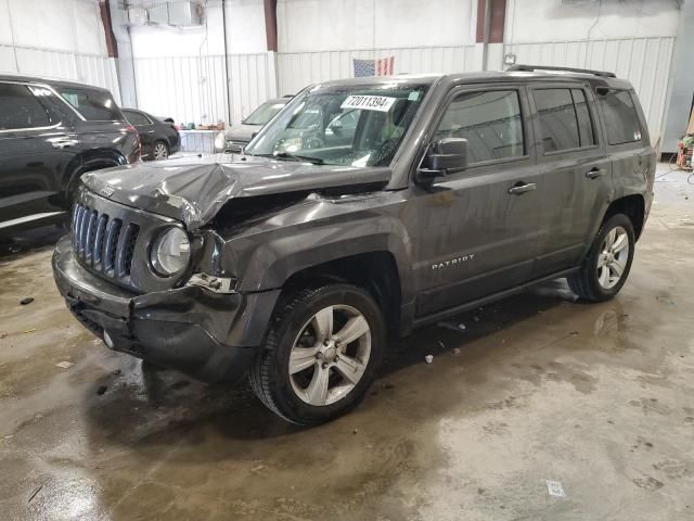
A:
<svg viewBox="0 0 694 521">
<path fill-rule="evenodd" d="M 629 79 L 641 100 L 655 144 L 663 132 L 668 79 L 674 38 L 513 43 L 516 63 L 611 71 Z"/>
</svg>

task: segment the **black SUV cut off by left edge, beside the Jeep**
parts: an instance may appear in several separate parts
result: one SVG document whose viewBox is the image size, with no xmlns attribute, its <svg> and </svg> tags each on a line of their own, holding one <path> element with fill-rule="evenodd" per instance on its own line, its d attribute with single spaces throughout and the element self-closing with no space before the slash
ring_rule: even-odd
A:
<svg viewBox="0 0 694 521">
<path fill-rule="evenodd" d="M 139 158 L 108 90 L 0 74 L 0 236 L 60 221 L 82 174 Z"/>
</svg>

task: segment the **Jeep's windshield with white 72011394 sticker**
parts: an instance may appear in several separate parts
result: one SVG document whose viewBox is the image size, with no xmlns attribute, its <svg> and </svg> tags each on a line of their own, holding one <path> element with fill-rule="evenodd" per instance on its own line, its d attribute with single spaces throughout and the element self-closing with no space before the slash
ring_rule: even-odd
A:
<svg viewBox="0 0 694 521">
<path fill-rule="evenodd" d="M 245 153 L 325 165 L 387 166 L 427 88 L 390 82 L 305 91 Z"/>
</svg>

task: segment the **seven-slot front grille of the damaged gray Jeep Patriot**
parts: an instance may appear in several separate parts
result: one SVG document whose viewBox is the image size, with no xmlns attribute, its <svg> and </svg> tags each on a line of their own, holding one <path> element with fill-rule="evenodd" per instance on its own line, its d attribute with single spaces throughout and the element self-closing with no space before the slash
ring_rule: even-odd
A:
<svg viewBox="0 0 694 521">
<path fill-rule="evenodd" d="M 130 276 L 140 225 L 77 203 L 72 231 L 73 250 L 82 264 L 106 277 Z"/>
</svg>

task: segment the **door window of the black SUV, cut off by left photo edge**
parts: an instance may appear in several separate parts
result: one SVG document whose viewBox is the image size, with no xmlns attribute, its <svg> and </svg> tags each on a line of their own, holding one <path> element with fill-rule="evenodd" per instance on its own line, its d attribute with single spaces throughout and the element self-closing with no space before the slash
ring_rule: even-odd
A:
<svg viewBox="0 0 694 521">
<path fill-rule="evenodd" d="M 53 96 L 50 90 L 26 85 L 0 84 L 0 130 L 50 127 L 53 122 L 41 96 Z"/>
</svg>

